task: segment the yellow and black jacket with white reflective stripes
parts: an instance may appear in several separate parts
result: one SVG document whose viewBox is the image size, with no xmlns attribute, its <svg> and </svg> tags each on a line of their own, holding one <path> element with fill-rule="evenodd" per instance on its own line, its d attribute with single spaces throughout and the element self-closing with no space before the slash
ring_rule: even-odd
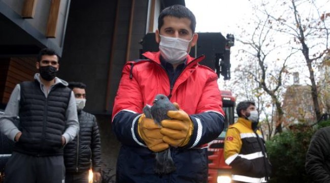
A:
<svg viewBox="0 0 330 183">
<path fill-rule="evenodd" d="M 243 182 L 267 182 L 271 164 L 267 159 L 261 132 L 251 128 L 251 121 L 240 117 L 230 126 L 224 142 L 224 159 L 232 166 L 232 179 Z"/>
</svg>

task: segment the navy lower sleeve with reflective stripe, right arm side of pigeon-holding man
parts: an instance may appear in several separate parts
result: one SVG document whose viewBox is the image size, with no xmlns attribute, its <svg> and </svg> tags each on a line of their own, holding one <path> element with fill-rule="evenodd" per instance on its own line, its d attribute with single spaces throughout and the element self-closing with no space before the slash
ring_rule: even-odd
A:
<svg viewBox="0 0 330 183">
<path fill-rule="evenodd" d="M 216 139 L 223 130 L 224 117 L 216 112 L 203 112 L 190 115 L 193 133 L 186 147 L 198 147 Z"/>
</svg>

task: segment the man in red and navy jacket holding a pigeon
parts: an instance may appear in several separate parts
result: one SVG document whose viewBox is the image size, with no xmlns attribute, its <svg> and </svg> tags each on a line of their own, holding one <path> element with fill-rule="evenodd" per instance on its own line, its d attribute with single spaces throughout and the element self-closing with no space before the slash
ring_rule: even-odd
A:
<svg viewBox="0 0 330 183">
<path fill-rule="evenodd" d="M 207 182 L 203 147 L 221 133 L 224 116 L 217 75 L 198 64 L 205 56 L 188 55 L 198 38 L 195 25 L 186 7 L 164 9 L 155 34 L 159 51 L 146 52 L 147 59 L 127 62 L 123 68 L 112 113 L 113 129 L 122 144 L 117 182 Z M 164 109 L 168 118 L 161 121 L 143 112 L 158 94 L 177 109 Z M 156 171 L 157 153 L 168 149 L 175 168 Z"/>
</svg>

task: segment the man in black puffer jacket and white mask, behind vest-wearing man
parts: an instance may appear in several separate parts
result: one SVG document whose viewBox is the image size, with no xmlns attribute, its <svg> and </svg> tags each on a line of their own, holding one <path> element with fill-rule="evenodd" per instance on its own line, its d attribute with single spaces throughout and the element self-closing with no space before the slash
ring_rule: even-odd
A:
<svg viewBox="0 0 330 183">
<path fill-rule="evenodd" d="M 90 167 L 93 171 L 93 182 L 100 182 L 101 138 L 96 117 L 83 111 L 86 104 L 86 85 L 70 82 L 69 87 L 76 98 L 80 132 L 64 148 L 65 183 L 88 183 Z"/>
</svg>

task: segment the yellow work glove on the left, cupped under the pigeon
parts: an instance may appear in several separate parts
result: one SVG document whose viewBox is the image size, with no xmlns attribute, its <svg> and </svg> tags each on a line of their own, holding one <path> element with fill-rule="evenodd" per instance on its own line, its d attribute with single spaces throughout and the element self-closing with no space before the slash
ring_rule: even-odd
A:
<svg viewBox="0 0 330 183">
<path fill-rule="evenodd" d="M 153 119 L 146 118 L 144 114 L 139 118 L 138 133 L 147 147 L 154 152 L 169 148 L 169 144 L 162 140 L 164 136 L 160 133 L 160 128 Z"/>
</svg>

